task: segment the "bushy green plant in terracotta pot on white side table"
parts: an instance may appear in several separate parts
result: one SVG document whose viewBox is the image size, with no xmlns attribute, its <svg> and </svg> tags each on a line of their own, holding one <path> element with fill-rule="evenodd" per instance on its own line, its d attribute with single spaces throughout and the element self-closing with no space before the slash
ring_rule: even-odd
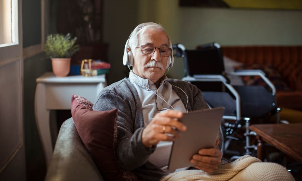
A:
<svg viewBox="0 0 302 181">
<path fill-rule="evenodd" d="M 79 49 L 76 39 L 71 38 L 70 33 L 47 35 L 44 52 L 51 59 L 56 77 L 65 77 L 69 74 L 71 56 Z"/>
</svg>

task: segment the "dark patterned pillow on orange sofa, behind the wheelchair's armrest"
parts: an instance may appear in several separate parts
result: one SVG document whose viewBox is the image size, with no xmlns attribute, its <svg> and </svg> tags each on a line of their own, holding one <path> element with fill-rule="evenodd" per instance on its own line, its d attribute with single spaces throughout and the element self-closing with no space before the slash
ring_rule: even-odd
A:
<svg viewBox="0 0 302 181">
<path fill-rule="evenodd" d="M 285 83 L 279 72 L 270 64 L 266 65 L 238 65 L 234 67 L 235 70 L 255 70 L 259 69 L 262 70 L 267 78 L 271 81 L 272 84 L 275 85 L 277 91 L 289 91 L 290 88 Z M 246 85 L 261 85 L 264 86 L 267 90 L 271 91 L 270 87 L 263 81 L 263 79 L 256 75 L 256 76 L 241 76 L 243 82 Z"/>
</svg>

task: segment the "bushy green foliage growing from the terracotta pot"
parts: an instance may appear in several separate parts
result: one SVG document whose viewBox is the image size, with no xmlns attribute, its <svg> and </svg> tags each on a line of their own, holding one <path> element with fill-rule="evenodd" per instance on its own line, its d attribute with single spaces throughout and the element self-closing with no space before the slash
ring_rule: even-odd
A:
<svg viewBox="0 0 302 181">
<path fill-rule="evenodd" d="M 49 34 L 46 37 L 44 52 L 50 58 L 70 58 L 79 49 L 76 39 L 76 37 L 71 38 L 70 33 Z"/>
</svg>

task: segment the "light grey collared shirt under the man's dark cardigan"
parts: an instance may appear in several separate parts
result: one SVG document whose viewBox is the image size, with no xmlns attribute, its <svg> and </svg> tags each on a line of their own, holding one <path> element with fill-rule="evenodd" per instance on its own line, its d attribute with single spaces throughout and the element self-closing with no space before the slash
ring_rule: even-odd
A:
<svg viewBox="0 0 302 181">
<path fill-rule="evenodd" d="M 172 89 L 172 85 L 167 81 L 167 76 L 164 75 L 162 77 L 158 88 L 152 81 L 141 78 L 132 71 L 129 73 L 129 79 L 140 97 L 145 127 L 152 121 L 154 116 L 161 111 L 170 109 L 184 113 L 187 112 L 182 100 Z M 150 155 L 149 161 L 166 171 L 171 148 L 171 141 L 160 141 L 154 153 Z"/>
</svg>

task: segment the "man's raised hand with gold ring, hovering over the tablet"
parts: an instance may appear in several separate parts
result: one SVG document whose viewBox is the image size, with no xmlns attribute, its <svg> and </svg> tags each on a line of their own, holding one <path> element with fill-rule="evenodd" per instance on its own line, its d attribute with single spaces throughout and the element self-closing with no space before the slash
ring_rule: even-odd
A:
<svg viewBox="0 0 302 181">
<path fill-rule="evenodd" d="M 182 118 L 180 111 L 167 110 L 157 113 L 152 121 L 146 126 L 142 134 L 142 142 L 146 148 L 156 145 L 159 141 L 173 141 L 180 138 L 180 134 L 175 130 L 185 131 L 187 127 L 177 119 Z M 174 127 L 174 129 L 172 128 Z M 171 135 L 166 135 L 169 133 Z"/>
</svg>

